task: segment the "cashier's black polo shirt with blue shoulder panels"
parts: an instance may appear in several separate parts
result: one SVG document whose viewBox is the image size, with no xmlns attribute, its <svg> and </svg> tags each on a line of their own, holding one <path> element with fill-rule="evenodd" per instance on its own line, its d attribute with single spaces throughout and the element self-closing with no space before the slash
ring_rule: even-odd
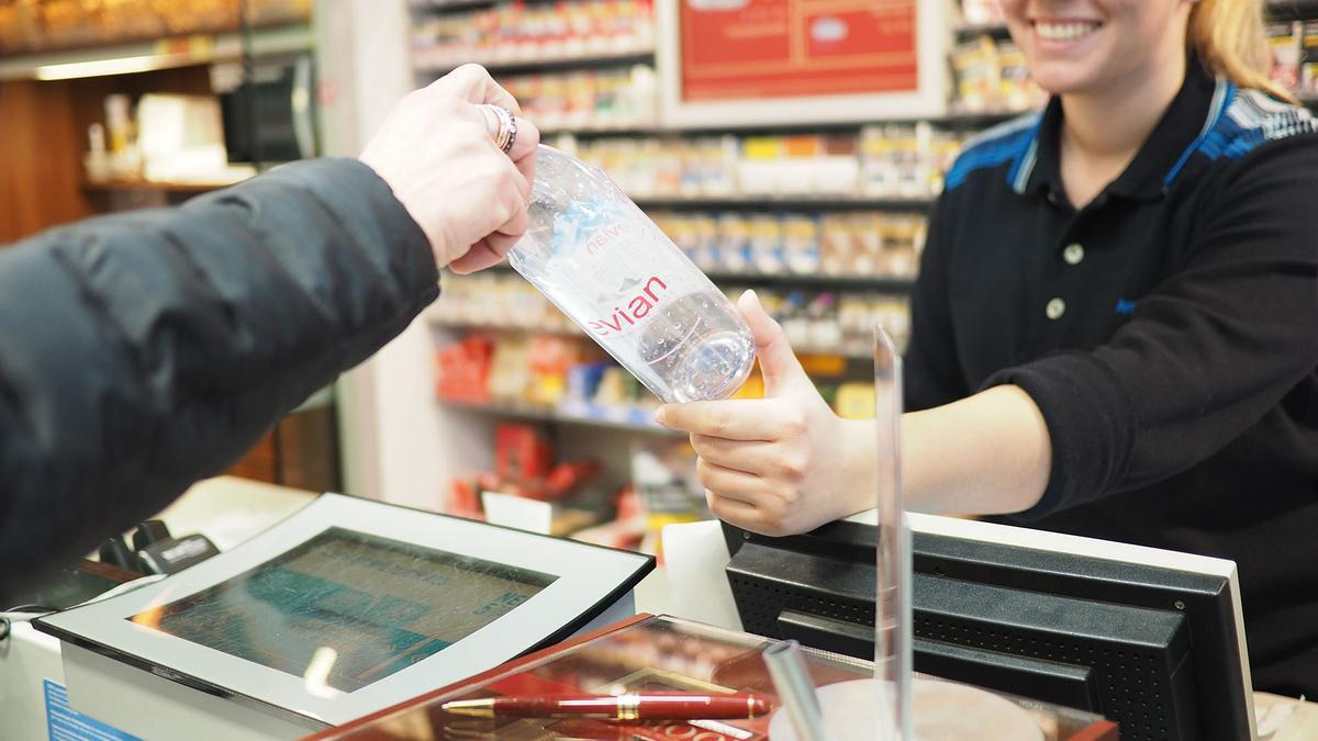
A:
<svg viewBox="0 0 1318 741">
<path fill-rule="evenodd" d="M 949 173 L 908 405 L 1023 388 L 1052 479 L 1011 519 L 1235 560 L 1255 687 L 1318 696 L 1318 123 L 1191 61 L 1081 210 L 1061 123 L 1054 99 Z"/>
</svg>

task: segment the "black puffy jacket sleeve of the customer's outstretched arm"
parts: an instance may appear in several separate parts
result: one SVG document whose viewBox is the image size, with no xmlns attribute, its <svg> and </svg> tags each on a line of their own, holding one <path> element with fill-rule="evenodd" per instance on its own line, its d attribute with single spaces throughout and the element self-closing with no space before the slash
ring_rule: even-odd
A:
<svg viewBox="0 0 1318 741">
<path fill-rule="evenodd" d="M 438 293 L 355 160 L 0 249 L 0 600 L 223 471 Z"/>
</svg>

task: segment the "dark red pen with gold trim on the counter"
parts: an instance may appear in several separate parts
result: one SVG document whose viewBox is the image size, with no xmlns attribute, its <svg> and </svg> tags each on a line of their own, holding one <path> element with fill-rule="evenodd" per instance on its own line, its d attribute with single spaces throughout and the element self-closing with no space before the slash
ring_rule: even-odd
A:
<svg viewBox="0 0 1318 741">
<path fill-rule="evenodd" d="M 444 712 L 473 717 L 583 717 L 598 720 L 753 719 L 770 711 L 759 695 L 641 692 L 627 695 L 518 695 L 453 700 Z"/>
</svg>

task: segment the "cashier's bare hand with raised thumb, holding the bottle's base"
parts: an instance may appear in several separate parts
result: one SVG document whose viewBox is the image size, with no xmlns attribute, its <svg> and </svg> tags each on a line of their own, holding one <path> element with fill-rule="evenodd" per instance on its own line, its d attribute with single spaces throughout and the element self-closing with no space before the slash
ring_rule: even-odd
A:
<svg viewBox="0 0 1318 741">
<path fill-rule="evenodd" d="M 755 336 L 766 398 L 675 403 L 655 415 L 691 432 L 709 509 L 786 535 L 874 506 L 874 435 L 833 414 L 754 291 L 738 309 Z"/>
</svg>

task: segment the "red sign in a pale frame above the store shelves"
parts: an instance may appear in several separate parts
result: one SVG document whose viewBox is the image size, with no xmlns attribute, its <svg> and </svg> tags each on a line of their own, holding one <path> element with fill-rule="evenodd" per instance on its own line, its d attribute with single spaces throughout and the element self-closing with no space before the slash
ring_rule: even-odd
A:
<svg viewBox="0 0 1318 741">
<path fill-rule="evenodd" d="M 662 0 L 666 123 L 920 117 L 946 104 L 944 3 Z M 804 107 L 796 105 L 797 103 Z"/>
</svg>

